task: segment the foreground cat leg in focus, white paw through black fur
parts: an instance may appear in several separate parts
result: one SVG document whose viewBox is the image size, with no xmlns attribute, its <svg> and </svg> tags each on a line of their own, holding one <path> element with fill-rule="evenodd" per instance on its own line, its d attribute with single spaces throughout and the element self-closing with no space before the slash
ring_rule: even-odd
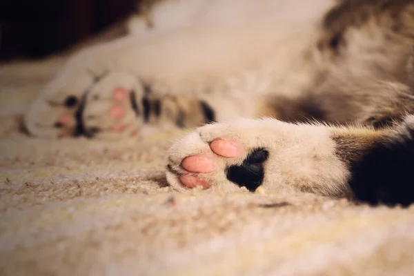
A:
<svg viewBox="0 0 414 276">
<path fill-rule="evenodd" d="M 282 186 L 370 204 L 414 201 L 414 116 L 393 128 L 338 128 L 237 119 L 210 124 L 170 149 L 167 179 L 176 190 L 269 193 Z"/>
</svg>

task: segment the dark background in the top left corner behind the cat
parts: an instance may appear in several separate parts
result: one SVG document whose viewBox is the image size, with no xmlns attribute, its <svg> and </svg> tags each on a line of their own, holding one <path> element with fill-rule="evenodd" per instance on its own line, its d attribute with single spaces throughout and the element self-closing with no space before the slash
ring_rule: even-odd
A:
<svg viewBox="0 0 414 276">
<path fill-rule="evenodd" d="M 0 0 L 0 61 L 45 57 L 137 9 L 137 0 Z"/>
</svg>

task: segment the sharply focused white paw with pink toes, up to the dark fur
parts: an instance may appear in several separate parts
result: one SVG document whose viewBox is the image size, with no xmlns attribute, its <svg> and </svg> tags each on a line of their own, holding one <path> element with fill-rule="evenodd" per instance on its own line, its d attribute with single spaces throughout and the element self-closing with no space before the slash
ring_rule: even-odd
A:
<svg viewBox="0 0 414 276">
<path fill-rule="evenodd" d="M 331 131 L 276 119 L 202 126 L 170 148 L 167 180 L 176 190 L 261 186 L 266 193 L 345 195 L 348 170 L 335 154 Z"/>
</svg>

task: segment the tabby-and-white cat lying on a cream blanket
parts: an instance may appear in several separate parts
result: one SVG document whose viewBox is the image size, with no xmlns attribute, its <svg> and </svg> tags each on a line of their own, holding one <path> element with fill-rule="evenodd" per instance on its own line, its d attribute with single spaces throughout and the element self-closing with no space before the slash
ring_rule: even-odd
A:
<svg viewBox="0 0 414 276">
<path fill-rule="evenodd" d="M 145 18 L 72 57 L 28 110 L 28 131 L 201 126 L 170 150 L 177 190 L 414 200 L 414 1 L 166 0 Z"/>
</svg>

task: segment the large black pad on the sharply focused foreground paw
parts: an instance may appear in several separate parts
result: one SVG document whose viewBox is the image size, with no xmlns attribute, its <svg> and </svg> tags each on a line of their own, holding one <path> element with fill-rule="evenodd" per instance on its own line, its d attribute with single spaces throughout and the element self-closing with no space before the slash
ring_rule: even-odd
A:
<svg viewBox="0 0 414 276">
<path fill-rule="evenodd" d="M 257 148 L 250 152 L 240 166 L 230 166 L 227 168 L 227 179 L 240 187 L 246 187 L 250 192 L 254 192 L 264 179 L 263 162 L 269 157 L 269 152 L 264 148 Z"/>
</svg>

